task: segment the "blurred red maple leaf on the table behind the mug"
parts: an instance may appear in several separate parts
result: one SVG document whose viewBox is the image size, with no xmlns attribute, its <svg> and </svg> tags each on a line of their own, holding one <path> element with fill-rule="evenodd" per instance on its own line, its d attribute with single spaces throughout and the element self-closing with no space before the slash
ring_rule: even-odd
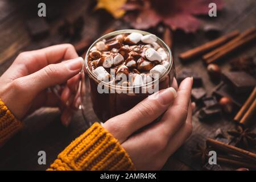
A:
<svg viewBox="0 0 256 182">
<path fill-rule="evenodd" d="M 196 15 L 208 14 L 209 3 L 222 9 L 222 0 L 137 0 L 128 1 L 123 7 L 127 11 L 125 20 L 137 29 L 147 29 L 163 22 L 172 30 L 180 28 L 195 32 L 201 24 Z"/>
</svg>

